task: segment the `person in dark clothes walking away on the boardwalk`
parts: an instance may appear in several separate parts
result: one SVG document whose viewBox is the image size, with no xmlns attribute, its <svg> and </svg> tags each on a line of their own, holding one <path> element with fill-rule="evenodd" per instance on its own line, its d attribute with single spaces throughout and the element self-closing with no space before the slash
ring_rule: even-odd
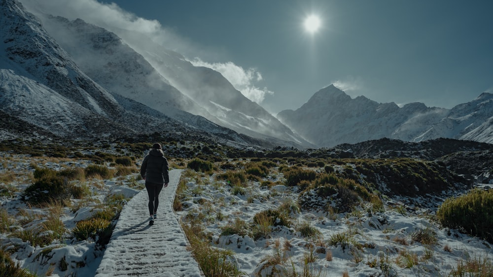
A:
<svg viewBox="0 0 493 277">
<path fill-rule="evenodd" d="M 161 144 L 155 143 L 152 149 L 144 157 L 141 165 L 141 176 L 145 181 L 145 189 L 149 195 L 149 225 L 154 224 L 157 207 L 159 206 L 159 193 L 163 187 L 170 183 L 168 174 L 168 160 L 164 156 Z"/>
</svg>

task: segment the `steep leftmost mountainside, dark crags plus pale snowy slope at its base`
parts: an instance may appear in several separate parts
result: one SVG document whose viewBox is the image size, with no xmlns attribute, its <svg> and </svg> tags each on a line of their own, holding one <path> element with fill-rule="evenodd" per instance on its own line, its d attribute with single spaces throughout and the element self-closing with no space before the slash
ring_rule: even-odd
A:
<svg viewBox="0 0 493 277">
<path fill-rule="evenodd" d="M 0 5 L 0 103 L 11 116 L 50 132 L 105 133 L 123 108 L 85 75 L 16 1 Z"/>
</svg>

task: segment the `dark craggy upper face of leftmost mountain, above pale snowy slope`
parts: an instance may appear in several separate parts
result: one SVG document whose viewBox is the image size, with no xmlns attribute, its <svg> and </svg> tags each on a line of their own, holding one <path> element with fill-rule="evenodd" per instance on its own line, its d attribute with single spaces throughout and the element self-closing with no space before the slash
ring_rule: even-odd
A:
<svg viewBox="0 0 493 277">
<path fill-rule="evenodd" d="M 1 7 L 4 68 L 39 81 L 89 111 L 118 116 L 121 110 L 111 94 L 80 71 L 32 14 L 16 1 L 4 0 Z"/>
</svg>

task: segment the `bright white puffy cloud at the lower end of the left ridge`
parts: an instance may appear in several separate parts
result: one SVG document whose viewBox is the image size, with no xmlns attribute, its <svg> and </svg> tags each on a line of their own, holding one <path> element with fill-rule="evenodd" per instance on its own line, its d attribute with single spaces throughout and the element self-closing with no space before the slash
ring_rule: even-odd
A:
<svg viewBox="0 0 493 277">
<path fill-rule="evenodd" d="M 190 61 L 195 66 L 205 66 L 221 73 L 235 89 L 242 92 L 246 98 L 251 101 L 261 103 L 265 99 L 265 95 L 274 94 L 267 88 L 260 89 L 255 86 L 259 81 L 262 81 L 262 75 L 254 68 L 244 69 L 233 62 L 204 62 L 199 58 Z"/>
</svg>

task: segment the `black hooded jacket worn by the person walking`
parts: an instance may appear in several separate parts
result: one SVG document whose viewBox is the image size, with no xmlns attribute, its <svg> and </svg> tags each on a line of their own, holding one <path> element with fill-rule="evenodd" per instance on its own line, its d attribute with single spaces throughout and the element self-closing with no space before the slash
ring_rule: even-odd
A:
<svg viewBox="0 0 493 277">
<path fill-rule="evenodd" d="M 151 149 L 141 165 L 141 176 L 145 182 L 153 184 L 170 183 L 168 160 L 160 149 Z"/>
</svg>

